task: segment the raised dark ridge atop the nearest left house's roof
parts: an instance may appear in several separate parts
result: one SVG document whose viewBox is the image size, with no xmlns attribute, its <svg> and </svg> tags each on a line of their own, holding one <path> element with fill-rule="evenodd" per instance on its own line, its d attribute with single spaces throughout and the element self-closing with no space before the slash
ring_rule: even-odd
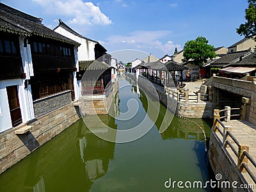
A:
<svg viewBox="0 0 256 192">
<path fill-rule="evenodd" d="M 29 15 L 28 13 L 20 12 L 19 10 L 12 8 L 10 6 L 7 6 L 6 4 L 0 3 L 0 10 L 3 10 L 4 12 L 12 13 L 13 15 L 17 15 L 19 17 L 22 17 L 24 19 L 31 20 L 33 22 L 42 23 L 42 18 L 34 17 L 32 15 Z"/>
</svg>

